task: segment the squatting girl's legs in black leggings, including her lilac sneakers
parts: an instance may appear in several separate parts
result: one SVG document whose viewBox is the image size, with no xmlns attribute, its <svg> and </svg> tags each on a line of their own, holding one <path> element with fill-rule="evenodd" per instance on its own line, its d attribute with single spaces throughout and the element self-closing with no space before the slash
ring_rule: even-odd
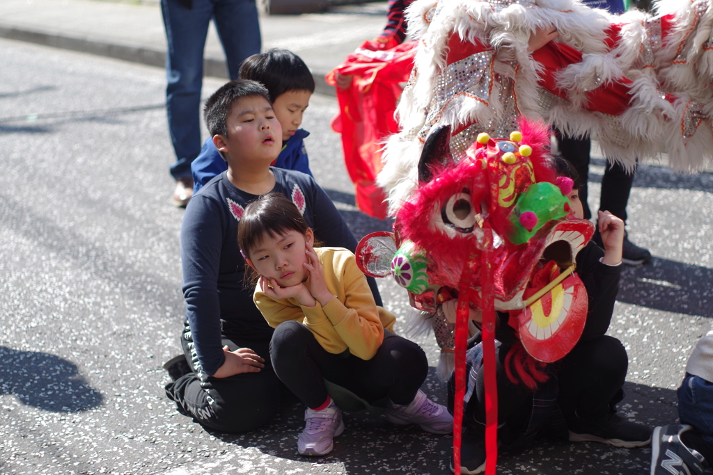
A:
<svg viewBox="0 0 713 475">
<path fill-rule="evenodd" d="M 446 408 L 419 390 L 426 380 L 428 362 L 419 345 L 405 338 L 384 338 L 374 357 L 361 360 L 349 353 L 327 352 L 306 326 L 287 321 L 275 328 L 270 357 L 280 380 L 308 408 L 304 430 L 297 439 L 300 454 L 328 454 L 332 439 L 344 430 L 342 413 L 329 397 L 324 380 L 372 404 L 388 397 L 386 419 L 390 422 L 419 424 L 437 434 L 453 430 L 453 418 Z"/>
</svg>

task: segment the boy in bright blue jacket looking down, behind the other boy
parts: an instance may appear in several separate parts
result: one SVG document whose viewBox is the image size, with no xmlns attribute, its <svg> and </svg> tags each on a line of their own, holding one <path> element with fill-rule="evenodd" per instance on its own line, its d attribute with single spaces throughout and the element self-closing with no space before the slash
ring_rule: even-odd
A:
<svg viewBox="0 0 713 475">
<path fill-rule="evenodd" d="M 240 65 L 240 78 L 262 83 L 270 93 L 275 116 L 282 125 L 282 151 L 272 165 L 309 174 L 309 158 L 304 148 L 302 115 L 309 106 L 314 93 L 314 78 L 299 56 L 284 49 L 272 48 L 267 53 L 254 54 Z M 193 174 L 193 194 L 213 177 L 227 170 L 225 158 L 221 157 L 212 137 L 203 143 L 200 155 L 190 165 Z"/>
</svg>

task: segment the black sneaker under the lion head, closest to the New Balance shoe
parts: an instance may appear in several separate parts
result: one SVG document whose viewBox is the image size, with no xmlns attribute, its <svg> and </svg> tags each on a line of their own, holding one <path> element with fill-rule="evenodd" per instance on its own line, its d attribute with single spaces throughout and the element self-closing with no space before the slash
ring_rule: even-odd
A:
<svg viewBox="0 0 713 475">
<path fill-rule="evenodd" d="M 576 417 L 568 421 L 570 442 L 602 442 L 614 447 L 644 447 L 651 442 L 651 428 L 638 422 L 630 422 L 618 414 L 606 417 Z"/>
</svg>

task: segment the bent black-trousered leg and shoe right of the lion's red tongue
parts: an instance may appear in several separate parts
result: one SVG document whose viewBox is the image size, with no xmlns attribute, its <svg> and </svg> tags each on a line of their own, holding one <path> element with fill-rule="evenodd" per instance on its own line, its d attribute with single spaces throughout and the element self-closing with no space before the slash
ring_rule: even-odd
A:
<svg viewBox="0 0 713 475">
<path fill-rule="evenodd" d="M 619 340 L 605 335 L 580 342 L 560 365 L 558 405 L 567 420 L 570 441 L 616 447 L 642 447 L 650 442 L 650 427 L 629 422 L 613 409 L 629 365 Z"/>
</svg>

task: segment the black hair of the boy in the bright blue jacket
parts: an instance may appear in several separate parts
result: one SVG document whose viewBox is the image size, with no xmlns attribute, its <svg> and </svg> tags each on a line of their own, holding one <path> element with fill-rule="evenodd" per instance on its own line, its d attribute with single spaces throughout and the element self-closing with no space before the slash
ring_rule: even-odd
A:
<svg viewBox="0 0 713 475">
<path fill-rule="evenodd" d="M 309 90 L 314 93 L 314 78 L 302 58 L 286 49 L 272 48 L 242 61 L 241 79 L 256 80 L 265 85 L 270 101 L 290 90 Z"/>
</svg>

